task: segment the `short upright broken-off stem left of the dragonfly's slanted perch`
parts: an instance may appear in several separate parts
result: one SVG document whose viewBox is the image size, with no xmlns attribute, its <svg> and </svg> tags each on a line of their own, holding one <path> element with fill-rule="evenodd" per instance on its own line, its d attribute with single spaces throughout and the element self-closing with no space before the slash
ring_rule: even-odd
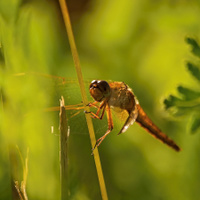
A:
<svg viewBox="0 0 200 200">
<path fill-rule="evenodd" d="M 68 196 L 68 126 L 65 111 L 64 98 L 60 100 L 60 182 L 61 182 L 61 200 L 66 200 Z"/>
</svg>

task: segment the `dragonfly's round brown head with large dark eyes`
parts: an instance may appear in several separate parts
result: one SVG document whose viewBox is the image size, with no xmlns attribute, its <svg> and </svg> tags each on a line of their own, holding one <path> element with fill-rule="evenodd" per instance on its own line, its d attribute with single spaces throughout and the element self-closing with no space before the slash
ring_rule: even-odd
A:
<svg viewBox="0 0 200 200">
<path fill-rule="evenodd" d="M 110 96 L 110 86 L 106 81 L 93 80 L 90 83 L 90 94 L 95 101 L 103 101 Z"/>
</svg>

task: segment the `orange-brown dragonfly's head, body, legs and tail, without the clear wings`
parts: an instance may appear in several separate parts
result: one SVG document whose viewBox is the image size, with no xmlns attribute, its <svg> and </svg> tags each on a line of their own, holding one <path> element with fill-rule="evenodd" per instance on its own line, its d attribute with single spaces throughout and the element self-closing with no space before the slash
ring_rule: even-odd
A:
<svg viewBox="0 0 200 200">
<path fill-rule="evenodd" d="M 113 130 L 114 124 L 112 120 L 111 109 L 119 108 L 128 113 L 128 117 L 118 134 L 124 133 L 134 123 L 147 130 L 148 133 L 159 139 L 175 151 L 180 151 L 180 147 L 164 134 L 147 116 L 139 101 L 135 97 L 132 89 L 124 82 L 110 82 L 104 80 L 93 80 L 89 86 L 89 91 L 95 102 L 89 103 L 90 107 L 96 107 L 97 112 L 90 112 L 93 118 L 102 119 L 104 113 L 107 113 L 108 130 L 100 137 L 93 148 L 98 147 L 105 137 Z M 96 104 L 100 103 L 99 106 Z M 102 112 L 101 112 L 102 111 Z M 101 112 L 101 114 L 100 114 Z"/>
</svg>

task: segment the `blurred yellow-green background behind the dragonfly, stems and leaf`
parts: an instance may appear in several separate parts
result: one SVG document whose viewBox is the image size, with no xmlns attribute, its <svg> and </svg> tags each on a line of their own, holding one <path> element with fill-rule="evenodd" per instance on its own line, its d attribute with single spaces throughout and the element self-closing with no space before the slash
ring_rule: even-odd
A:
<svg viewBox="0 0 200 200">
<path fill-rule="evenodd" d="M 111 133 L 99 147 L 109 199 L 199 199 L 200 133 L 190 134 L 191 116 L 173 117 L 163 100 L 177 95 L 179 85 L 199 91 L 185 67 L 188 60 L 198 62 L 185 38 L 198 40 L 200 2 L 67 3 L 84 78 L 127 83 L 152 120 L 182 148 L 174 152 L 137 124 L 120 136 Z M 17 169 L 16 179 L 22 179 L 21 163 L 10 162 L 10 145 L 18 145 L 24 158 L 29 148 L 29 199 L 59 199 L 59 116 L 42 111 L 50 104 L 58 106 L 59 96 L 49 95 L 54 87 L 49 78 L 13 76 L 35 72 L 76 78 L 58 2 L 1 0 L 0 45 L 0 199 L 12 199 L 12 168 Z M 79 89 L 71 87 L 66 102 L 79 103 Z M 101 199 L 85 121 L 77 120 L 78 130 L 72 125 L 69 139 L 71 199 Z M 104 133 L 99 132 L 97 137 Z"/>
</svg>

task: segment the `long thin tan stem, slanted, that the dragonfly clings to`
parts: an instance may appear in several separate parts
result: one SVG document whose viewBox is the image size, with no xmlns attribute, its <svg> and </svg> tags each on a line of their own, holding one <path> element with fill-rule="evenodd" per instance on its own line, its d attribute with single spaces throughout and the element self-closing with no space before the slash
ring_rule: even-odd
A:
<svg viewBox="0 0 200 200">
<path fill-rule="evenodd" d="M 74 63 L 75 63 L 75 68 L 76 68 L 78 81 L 79 81 L 79 85 L 80 85 L 80 89 L 81 89 L 82 100 L 83 100 L 84 105 L 88 105 L 88 100 L 87 100 L 87 96 L 86 96 L 86 92 L 85 92 L 85 88 L 84 88 L 83 77 L 82 77 L 82 72 L 81 72 L 81 67 L 80 67 L 79 56 L 78 56 L 78 52 L 76 49 L 76 44 L 75 44 L 75 40 L 74 40 L 74 36 L 73 36 L 73 32 L 72 32 L 72 27 L 71 27 L 71 22 L 70 22 L 70 18 L 69 18 L 67 5 L 66 5 L 65 0 L 59 0 L 59 2 L 60 2 L 60 7 L 62 10 L 65 27 L 66 27 L 68 38 L 69 38 L 72 56 L 73 56 Z M 90 112 L 88 106 L 86 106 L 85 110 L 86 110 L 86 112 Z M 96 144 L 96 138 L 95 138 L 95 134 L 94 134 L 92 119 L 91 119 L 90 115 L 88 115 L 88 114 L 86 114 L 86 121 L 87 121 L 88 130 L 89 130 L 89 134 L 90 134 L 91 144 L 92 144 L 92 147 L 94 147 L 94 145 Z M 105 186 L 105 181 L 104 181 L 104 177 L 103 177 L 103 172 L 102 172 L 101 161 L 100 161 L 98 149 L 96 148 L 93 153 L 94 153 L 94 160 L 95 160 L 95 164 L 96 164 L 102 199 L 106 200 L 106 199 L 108 199 L 108 196 L 107 196 L 107 191 L 106 191 L 106 186 Z"/>
</svg>

